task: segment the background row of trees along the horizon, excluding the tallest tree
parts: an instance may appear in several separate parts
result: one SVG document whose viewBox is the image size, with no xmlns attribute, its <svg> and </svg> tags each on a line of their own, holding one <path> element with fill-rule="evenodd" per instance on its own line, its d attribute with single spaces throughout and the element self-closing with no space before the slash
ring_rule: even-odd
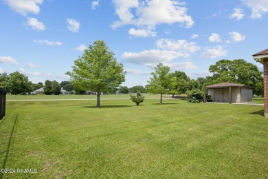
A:
<svg viewBox="0 0 268 179">
<path fill-rule="evenodd" d="M 230 61 L 217 61 L 215 65 L 210 65 L 209 72 L 212 76 L 205 78 L 199 77 L 197 80 L 191 79 L 185 72 L 170 72 L 170 68 L 163 64 L 157 65 L 155 72 L 152 73 L 148 85 L 136 85 L 133 87 L 120 86 L 113 89 L 113 92 L 120 94 L 141 93 L 157 93 L 157 94 L 186 94 L 192 89 L 200 89 L 207 85 L 216 83 L 230 82 L 251 85 L 254 87 L 254 94 L 263 96 L 263 76 L 259 72 L 258 67 L 252 63 L 247 63 L 242 59 Z M 81 89 L 78 85 L 74 85 L 72 81 L 45 81 L 45 85 L 41 82 L 32 83 L 25 74 L 13 72 L 11 74 L 0 74 L 0 87 L 4 87 L 11 94 L 30 94 L 36 89 L 44 87 L 45 94 L 60 94 L 63 87 L 69 94 L 85 94 L 86 90 Z M 159 89 L 162 88 L 162 89 Z"/>
</svg>

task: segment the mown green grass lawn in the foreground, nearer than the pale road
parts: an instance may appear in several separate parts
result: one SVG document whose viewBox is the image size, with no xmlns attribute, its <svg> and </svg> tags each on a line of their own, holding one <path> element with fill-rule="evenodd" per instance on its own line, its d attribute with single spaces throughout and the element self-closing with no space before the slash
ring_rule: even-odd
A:
<svg viewBox="0 0 268 179">
<path fill-rule="evenodd" d="M 263 106 L 8 102 L 0 178 L 268 178 Z"/>
</svg>

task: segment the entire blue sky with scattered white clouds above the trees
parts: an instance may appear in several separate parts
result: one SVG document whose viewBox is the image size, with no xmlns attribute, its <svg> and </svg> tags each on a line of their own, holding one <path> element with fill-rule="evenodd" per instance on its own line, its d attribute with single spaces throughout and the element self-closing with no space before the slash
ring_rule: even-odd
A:
<svg viewBox="0 0 268 179">
<path fill-rule="evenodd" d="M 33 83 L 68 81 L 65 72 L 96 40 L 127 72 L 122 85 L 146 85 L 157 63 L 190 78 L 220 59 L 268 48 L 268 0 L 0 0 L 0 73 Z"/>
</svg>

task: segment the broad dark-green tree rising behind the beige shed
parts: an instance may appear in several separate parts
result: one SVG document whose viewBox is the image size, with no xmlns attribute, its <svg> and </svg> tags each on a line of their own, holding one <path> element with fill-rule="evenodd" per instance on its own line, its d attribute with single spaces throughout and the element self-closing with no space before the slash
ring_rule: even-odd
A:
<svg viewBox="0 0 268 179">
<path fill-rule="evenodd" d="M 209 72 L 213 74 L 213 83 L 241 83 L 255 87 L 254 94 L 260 94 L 263 88 L 263 72 L 256 65 L 248 63 L 243 59 L 220 60 L 215 65 L 210 65 Z"/>
</svg>

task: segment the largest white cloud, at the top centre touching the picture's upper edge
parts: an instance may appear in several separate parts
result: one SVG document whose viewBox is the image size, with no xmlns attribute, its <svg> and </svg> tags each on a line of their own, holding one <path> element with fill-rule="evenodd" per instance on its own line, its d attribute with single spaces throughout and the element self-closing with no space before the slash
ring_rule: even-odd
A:
<svg viewBox="0 0 268 179">
<path fill-rule="evenodd" d="M 161 23 L 173 24 L 181 23 L 186 28 L 192 27 L 194 21 L 186 14 L 185 3 L 172 0 L 113 0 L 115 13 L 118 14 L 120 21 L 113 22 L 112 28 L 119 28 L 122 25 L 137 25 L 139 27 L 155 28 Z M 136 10 L 136 17 L 132 13 Z"/>
</svg>

